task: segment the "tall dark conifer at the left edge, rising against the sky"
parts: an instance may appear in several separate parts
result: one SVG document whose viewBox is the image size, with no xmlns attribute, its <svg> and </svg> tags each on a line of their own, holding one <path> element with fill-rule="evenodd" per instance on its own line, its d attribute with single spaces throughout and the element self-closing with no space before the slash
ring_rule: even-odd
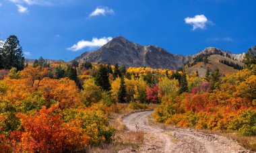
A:
<svg viewBox="0 0 256 153">
<path fill-rule="evenodd" d="M 22 53 L 22 47 L 16 36 L 9 36 L 0 50 L 1 64 L 3 68 L 10 69 L 11 67 L 22 70 L 24 68 L 25 58 Z"/>
</svg>

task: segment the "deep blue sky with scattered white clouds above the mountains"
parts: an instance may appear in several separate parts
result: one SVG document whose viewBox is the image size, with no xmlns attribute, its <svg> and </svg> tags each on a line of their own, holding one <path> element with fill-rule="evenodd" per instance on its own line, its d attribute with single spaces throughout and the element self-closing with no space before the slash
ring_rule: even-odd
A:
<svg viewBox="0 0 256 153">
<path fill-rule="evenodd" d="M 26 58 L 73 60 L 123 36 L 172 54 L 256 45 L 255 0 L 0 0 L 0 39 Z"/>
</svg>

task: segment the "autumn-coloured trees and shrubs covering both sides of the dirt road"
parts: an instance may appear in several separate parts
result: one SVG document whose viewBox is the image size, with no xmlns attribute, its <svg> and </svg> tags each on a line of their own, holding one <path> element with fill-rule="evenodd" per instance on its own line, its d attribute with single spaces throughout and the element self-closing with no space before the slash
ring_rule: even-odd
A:
<svg viewBox="0 0 256 153">
<path fill-rule="evenodd" d="M 223 78 L 216 68 L 201 79 L 182 69 L 49 63 L 42 57 L 29 64 L 18 38 L 5 43 L 0 48 L 3 152 L 136 148 L 143 132 L 125 132 L 120 119 L 156 105 L 154 118 L 162 123 L 256 136 L 255 48 L 246 56 L 247 68 Z M 255 141 L 247 144 L 255 148 Z"/>
</svg>

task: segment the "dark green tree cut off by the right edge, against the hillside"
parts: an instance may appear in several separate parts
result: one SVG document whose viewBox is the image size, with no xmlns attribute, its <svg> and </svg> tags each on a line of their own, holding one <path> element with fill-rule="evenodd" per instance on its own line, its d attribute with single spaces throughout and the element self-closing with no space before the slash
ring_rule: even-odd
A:
<svg viewBox="0 0 256 153">
<path fill-rule="evenodd" d="M 245 60 L 243 62 L 249 69 L 251 69 L 253 64 L 256 64 L 256 46 L 254 48 L 249 48 L 248 52 L 245 53 Z"/>
</svg>

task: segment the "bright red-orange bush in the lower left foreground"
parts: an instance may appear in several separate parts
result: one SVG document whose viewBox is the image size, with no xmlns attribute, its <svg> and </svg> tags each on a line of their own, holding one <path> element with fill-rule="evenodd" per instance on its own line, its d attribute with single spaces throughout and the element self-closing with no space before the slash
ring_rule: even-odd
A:
<svg viewBox="0 0 256 153">
<path fill-rule="evenodd" d="M 42 109 L 35 115 L 18 113 L 24 132 L 16 149 L 22 152 L 63 152 L 84 148 L 90 140 L 79 127 L 81 122 L 63 121 L 57 105 Z"/>
</svg>

